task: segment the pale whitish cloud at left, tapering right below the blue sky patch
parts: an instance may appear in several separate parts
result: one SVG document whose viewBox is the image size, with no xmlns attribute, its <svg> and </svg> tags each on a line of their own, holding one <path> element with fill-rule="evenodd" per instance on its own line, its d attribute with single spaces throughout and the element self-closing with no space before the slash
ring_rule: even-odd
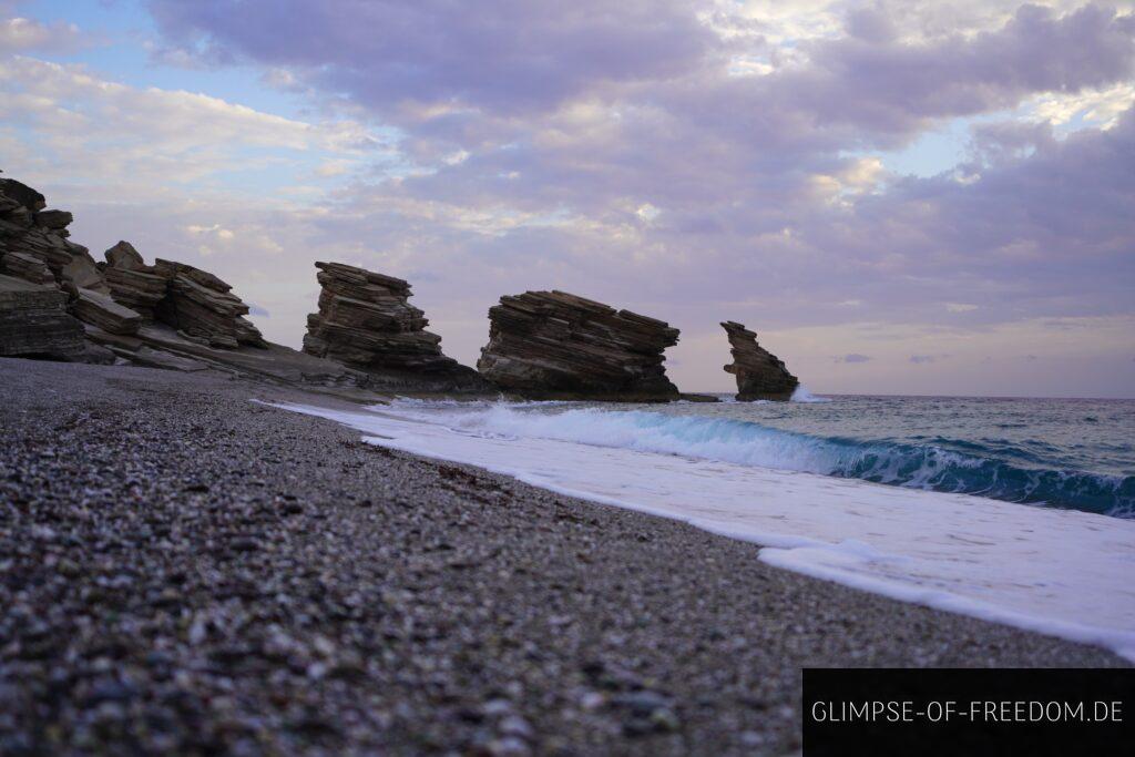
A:
<svg viewBox="0 0 1135 757">
<path fill-rule="evenodd" d="M 114 179 L 120 193 L 168 192 L 232 171 L 306 170 L 328 159 L 358 167 L 381 152 L 356 121 L 304 123 L 20 56 L 0 56 L 0 138 L 12 145 L 9 173 Z"/>
</svg>

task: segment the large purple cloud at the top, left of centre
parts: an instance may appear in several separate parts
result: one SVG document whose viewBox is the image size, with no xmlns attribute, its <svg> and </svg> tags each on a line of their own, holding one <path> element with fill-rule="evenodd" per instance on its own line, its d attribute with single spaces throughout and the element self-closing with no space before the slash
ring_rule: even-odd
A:
<svg viewBox="0 0 1135 757">
<path fill-rule="evenodd" d="M 162 31 L 218 61 L 294 67 L 388 111 L 404 101 L 518 111 L 600 84 L 687 73 L 714 35 L 689 3 L 155 0 Z"/>
</svg>

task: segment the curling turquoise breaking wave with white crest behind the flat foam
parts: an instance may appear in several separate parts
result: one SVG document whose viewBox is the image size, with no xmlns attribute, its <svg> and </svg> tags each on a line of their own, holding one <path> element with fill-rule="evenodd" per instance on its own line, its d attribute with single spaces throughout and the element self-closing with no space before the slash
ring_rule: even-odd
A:
<svg viewBox="0 0 1135 757">
<path fill-rule="evenodd" d="M 1027 468 L 1004 457 L 1027 459 L 1029 452 L 1004 444 L 864 441 L 637 410 L 533 412 L 506 404 L 440 413 L 436 406 L 426 413 L 412 405 L 394 410 L 478 436 L 557 439 L 1135 518 L 1135 476 Z"/>
</svg>

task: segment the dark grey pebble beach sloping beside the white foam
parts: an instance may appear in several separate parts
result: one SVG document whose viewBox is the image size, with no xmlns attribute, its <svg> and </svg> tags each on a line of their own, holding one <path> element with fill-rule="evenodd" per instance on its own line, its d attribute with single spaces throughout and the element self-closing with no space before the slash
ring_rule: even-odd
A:
<svg viewBox="0 0 1135 757">
<path fill-rule="evenodd" d="M 1107 666 L 363 444 L 224 376 L 0 360 L 0 754 L 784 754 L 801 666 Z"/>
</svg>

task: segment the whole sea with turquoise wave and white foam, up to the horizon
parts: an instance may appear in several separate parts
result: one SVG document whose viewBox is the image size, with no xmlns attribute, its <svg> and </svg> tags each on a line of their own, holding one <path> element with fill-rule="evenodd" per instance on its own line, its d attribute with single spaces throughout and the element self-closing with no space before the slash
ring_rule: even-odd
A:
<svg viewBox="0 0 1135 757">
<path fill-rule="evenodd" d="M 773 565 L 1135 659 L 1135 401 L 720 399 L 285 406 L 751 541 Z"/>
</svg>

